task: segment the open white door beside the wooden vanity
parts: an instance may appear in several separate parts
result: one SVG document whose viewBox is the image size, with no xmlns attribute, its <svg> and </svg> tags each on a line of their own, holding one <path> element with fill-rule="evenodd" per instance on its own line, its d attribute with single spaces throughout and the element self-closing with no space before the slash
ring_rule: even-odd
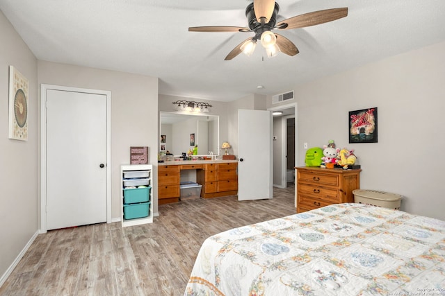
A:
<svg viewBox="0 0 445 296">
<path fill-rule="evenodd" d="M 238 110 L 238 200 L 273 197 L 271 114 Z"/>
</svg>

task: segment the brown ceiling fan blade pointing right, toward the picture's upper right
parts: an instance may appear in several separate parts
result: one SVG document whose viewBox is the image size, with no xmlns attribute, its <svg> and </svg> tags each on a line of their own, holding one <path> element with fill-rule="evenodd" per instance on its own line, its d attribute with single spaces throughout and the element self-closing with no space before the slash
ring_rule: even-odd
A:
<svg viewBox="0 0 445 296">
<path fill-rule="evenodd" d="M 289 19 L 284 19 L 284 21 L 280 21 L 275 26 L 275 28 L 288 30 L 293 28 L 315 26 L 318 24 L 327 23 L 328 21 L 341 19 L 342 17 L 346 17 L 347 15 L 348 15 L 347 7 L 318 10 L 314 12 L 305 13 L 304 15 L 297 15 L 296 17 L 290 17 Z"/>
</svg>

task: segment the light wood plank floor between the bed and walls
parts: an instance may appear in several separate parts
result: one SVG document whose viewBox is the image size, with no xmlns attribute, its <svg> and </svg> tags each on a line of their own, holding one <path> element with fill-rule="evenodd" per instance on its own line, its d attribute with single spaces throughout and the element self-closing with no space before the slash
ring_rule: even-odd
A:
<svg viewBox="0 0 445 296">
<path fill-rule="evenodd" d="M 272 200 L 236 196 L 159 206 L 154 223 L 120 223 L 40 234 L 0 295 L 183 295 L 197 252 L 219 232 L 295 214 L 294 186 Z"/>
</svg>

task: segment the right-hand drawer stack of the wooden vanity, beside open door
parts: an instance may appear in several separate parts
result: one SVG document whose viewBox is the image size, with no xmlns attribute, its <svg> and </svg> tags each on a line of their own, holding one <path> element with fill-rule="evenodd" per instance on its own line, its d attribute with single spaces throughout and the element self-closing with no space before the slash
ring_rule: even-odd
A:
<svg viewBox="0 0 445 296">
<path fill-rule="evenodd" d="M 204 169 L 197 171 L 196 180 L 202 184 L 202 198 L 236 195 L 238 193 L 238 173 L 236 162 L 204 164 Z"/>
</svg>

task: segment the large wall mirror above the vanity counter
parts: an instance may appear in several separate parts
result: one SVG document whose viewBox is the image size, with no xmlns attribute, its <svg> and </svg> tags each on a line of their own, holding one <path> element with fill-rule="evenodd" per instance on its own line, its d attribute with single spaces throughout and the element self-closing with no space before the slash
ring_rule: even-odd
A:
<svg viewBox="0 0 445 296">
<path fill-rule="evenodd" d="M 219 116 L 160 112 L 160 119 L 161 153 L 181 156 L 197 146 L 198 156 L 218 155 Z"/>
</svg>

